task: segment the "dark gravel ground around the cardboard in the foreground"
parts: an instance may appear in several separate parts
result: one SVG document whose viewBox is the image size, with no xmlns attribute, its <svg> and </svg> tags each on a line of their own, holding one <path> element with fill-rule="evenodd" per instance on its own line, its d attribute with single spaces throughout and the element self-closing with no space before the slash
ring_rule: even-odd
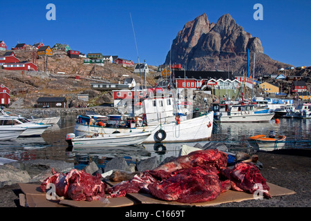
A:
<svg viewBox="0 0 311 221">
<path fill-rule="evenodd" d="M 310 207 L 311 206 L 311 150 L 290 149 L 272 152 L 258 152 L 263 163 L 261 174 L 267 182 L 292 191 L 294 195 L 277 196 L 272 199 L 246 200 L 220 204 L 217 207 Z M 39 184 L 39 183 L 38 183 Z M 1 207 L 19 206 L 18 184 L 0 189 Z"/>
</svg>

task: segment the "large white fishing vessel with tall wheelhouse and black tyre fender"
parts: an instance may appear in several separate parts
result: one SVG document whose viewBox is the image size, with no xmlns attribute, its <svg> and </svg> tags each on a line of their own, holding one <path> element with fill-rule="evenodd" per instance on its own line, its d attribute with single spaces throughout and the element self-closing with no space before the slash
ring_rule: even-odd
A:
<svg viewBox="0 0 311 221">
<path fill-rule="evenodd" d="M 102 116 L 102 119 L 79 115 L 74 133 L 81 136 L 94 133 L 111 134 L 114 131 L 120 133 L 151 131 L 151 135 L 144 143 L 209 140 L 211 137 L 213 112 L 202 113 L 198 117 L 185 113 L 178 115 L 177 105 L 174 104 L 172 96 L 164 94 L 154 97 L 149 95 L 140 103 L 142 105 L 135 106 L 133 115 L 107 115 Z M 122 112 L 130 113 L 130 111 Z"/>
</svg>

